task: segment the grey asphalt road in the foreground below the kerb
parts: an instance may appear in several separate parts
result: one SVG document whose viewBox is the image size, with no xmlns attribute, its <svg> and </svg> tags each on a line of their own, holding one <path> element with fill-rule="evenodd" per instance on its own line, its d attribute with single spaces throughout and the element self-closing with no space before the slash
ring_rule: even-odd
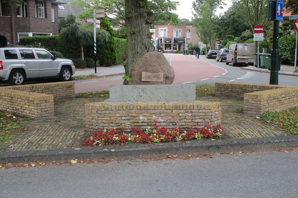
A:
<svg viewBox="0 0 298 198">
<path fill-rule="evenodd" d="M 192 154 L 193 155 L 193 154 Z M 298 197 L 298 151 L 0 169 L 0 197 Z"/>
</svg>

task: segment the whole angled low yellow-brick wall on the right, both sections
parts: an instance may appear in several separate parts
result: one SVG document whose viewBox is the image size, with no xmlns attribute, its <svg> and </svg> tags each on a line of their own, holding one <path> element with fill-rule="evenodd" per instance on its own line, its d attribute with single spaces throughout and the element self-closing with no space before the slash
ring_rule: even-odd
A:
<svg viewBox="0 0 298 198">
<path fill-rule="evenodd" d="M 215 96 L 244 99 L 244 114 L 251 116 L 298 106 L 298 86 L 221 82 Z"/>
</svg>

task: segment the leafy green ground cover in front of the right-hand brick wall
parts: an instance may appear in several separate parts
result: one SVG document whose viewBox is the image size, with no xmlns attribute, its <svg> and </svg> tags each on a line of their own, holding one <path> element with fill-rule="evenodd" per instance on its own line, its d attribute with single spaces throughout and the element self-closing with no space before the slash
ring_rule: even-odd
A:
<svg viewBox="0 0 298 198">
<path fill-rule="evenodd" d="M 298 135 L 298 107 L 280 112 L 267 111 L 260 118 L 263 122 L 278 124 L 287 132 Z"/>
</svg>

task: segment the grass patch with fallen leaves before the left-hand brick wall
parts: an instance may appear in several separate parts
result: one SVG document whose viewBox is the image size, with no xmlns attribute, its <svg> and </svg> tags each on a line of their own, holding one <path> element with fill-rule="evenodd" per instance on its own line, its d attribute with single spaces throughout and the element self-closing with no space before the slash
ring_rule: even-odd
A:
<svg viewBox="0 0 298 198">
<path fill-rule="evenodd" d="M 0 111 L 0 145 L 10 142 L 22 131 L 23 126 L 31 121 L 29 118 L 20 118 L 10 113 Z"/>
</svg>

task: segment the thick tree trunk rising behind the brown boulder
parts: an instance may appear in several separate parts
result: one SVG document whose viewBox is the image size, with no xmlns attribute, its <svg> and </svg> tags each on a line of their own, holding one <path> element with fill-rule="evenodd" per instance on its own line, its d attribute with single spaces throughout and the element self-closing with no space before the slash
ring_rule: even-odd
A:
<svg viewBox="0 0 298 198">
<path fill-rule="evenodd" d="M 144 5 L 146 4 L 146 5 Z M 123 55 L 125 76 L 131 78 L 131 72 L 139 58 L 153 51 L 150 42 L 150 24 L 153 23 L 153 12 L 148 9 L 147 0 L 125 0 L 125 18 L 127 28 L 126 51 Z M 128 85 L 127 80 L 123 85 Z"/>
</svg>

